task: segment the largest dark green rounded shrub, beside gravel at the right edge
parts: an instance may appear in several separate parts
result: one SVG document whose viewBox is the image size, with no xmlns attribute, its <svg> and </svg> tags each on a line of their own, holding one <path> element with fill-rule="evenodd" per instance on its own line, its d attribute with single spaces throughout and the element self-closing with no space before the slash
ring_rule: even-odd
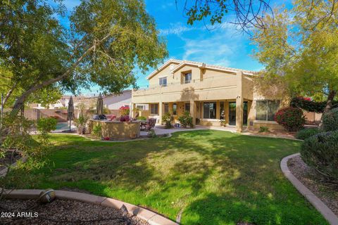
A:
<svg viewBox="0 0 338 225">
<path fill-rule="evenodd" d="M 301 145 L 301 158 L 323 174 L 327 181 L 338 184 L 338 131 L 315 134 Z"/>
</svg>

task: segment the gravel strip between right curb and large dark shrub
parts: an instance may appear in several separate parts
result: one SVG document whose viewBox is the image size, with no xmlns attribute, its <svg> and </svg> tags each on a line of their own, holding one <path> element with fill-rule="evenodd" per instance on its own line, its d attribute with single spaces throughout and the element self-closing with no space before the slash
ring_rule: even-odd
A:
<svg viewBox="0 0 338 225">
<path fill-rule="evenodd" d="M 290 172 L 296 176 L 303 185 L 310 189 L 327 207 L 338 216 L 338 189 L 330 184 L 320 181 L 320 174 L 308 167 L 300 156 L 287 162 Z"/>
</svg>

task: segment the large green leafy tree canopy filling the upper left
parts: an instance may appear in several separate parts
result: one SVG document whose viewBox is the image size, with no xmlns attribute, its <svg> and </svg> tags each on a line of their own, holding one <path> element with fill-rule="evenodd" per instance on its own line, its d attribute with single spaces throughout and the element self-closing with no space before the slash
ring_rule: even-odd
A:
<svg viewBox="0 0 338 225">
<path fill-rule="evenodd" d="M 167 56 L 143 1 L 83 0 L 70 17 L 70 30 L 58 20 L 64 7 L 53 5 L 46 0 L 0 5 L 1 60 L 13 74 L 13 89 L 23 89 L 13 111 L 54 84 L 68 91 L 98 84 L 117 93 L 135 84 L 134 68 L 145 72 Z"/>
</svg>

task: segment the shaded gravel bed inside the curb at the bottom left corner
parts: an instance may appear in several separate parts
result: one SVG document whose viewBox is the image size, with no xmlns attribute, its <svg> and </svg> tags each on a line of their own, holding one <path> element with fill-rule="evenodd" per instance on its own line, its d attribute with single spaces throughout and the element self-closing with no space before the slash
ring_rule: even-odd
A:
<svg viewBox="0 0 338 225">
<path fill-rule="evenodd" d="M 8 212 L 11 212 L 11 215 L 14 214 L 14 216 L 8 218 Z M 18 212 L 27 212 L 28 214 L 19 217 Z M 73 200 L 56 199 L 46 205 L 39 204 L 36 200 L 1 200 L 0 213 L 0 224 L 149 225 L 142 219 L 123 213 L 122 210 Z"/>
</svg>

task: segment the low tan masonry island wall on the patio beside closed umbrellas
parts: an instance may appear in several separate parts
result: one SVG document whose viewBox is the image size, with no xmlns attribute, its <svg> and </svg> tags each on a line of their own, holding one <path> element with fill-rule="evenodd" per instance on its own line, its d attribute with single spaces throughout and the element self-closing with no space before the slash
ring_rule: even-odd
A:
<svg viewBox="0 0 338 225">
<path fill-rule="evenodd" d="M 101 124 L 101 131 L 103 137 L 109 137 L 110 139 L 136 139 L 139 137 L 139 121 L 132 122 L 119 122 L 108 120 L 89 120 L 89 133 L 95 125 Z"/>
</svg>

